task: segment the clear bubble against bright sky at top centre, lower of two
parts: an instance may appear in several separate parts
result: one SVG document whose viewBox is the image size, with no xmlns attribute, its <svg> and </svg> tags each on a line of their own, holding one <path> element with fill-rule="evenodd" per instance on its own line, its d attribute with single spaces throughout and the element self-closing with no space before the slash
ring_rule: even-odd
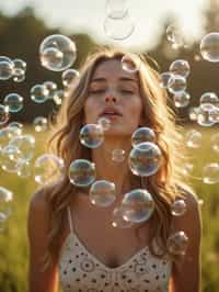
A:
<svg viewBox="0 0 219 292">
<path fill-rule="evenodd" d="M 106 16 L 104 21 L 105 34 L 115 41 L 128 38 L 135 31 L 135 24 L 127 13 L 123 19 L 112 19 Z"/>
</svg>

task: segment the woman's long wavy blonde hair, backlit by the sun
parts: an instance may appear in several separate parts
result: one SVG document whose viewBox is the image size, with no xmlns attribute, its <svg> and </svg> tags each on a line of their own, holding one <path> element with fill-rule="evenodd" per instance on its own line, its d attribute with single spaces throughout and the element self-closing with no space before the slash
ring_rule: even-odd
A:
<svg viewBox="0 0 219 292">
<path fill-rule="evenodd" d="M 122 60 L 127 52 L 102 47 L 91 54 L 80 69 L 80 78 L 72 82 L 71 90 L 61 104 L 57 114 L 48 147 L 51 153 L 61 157 L 65 161 L 64 178 L 47 190 L 49 205 L 49 234 L 47 252 L 44 257 L 44 268 L 53 262 L 54 256 L 58 256 L 60 247 L 60 235 L 64 228 L 66 209 L 69 205 L 72 194 L 79 189 L 72 186 L 68 178 L 68 169 L 74 159 L 91 159 L 91 150 L 81 145 L 79 133 L 83 121 L 83 106 L 88 97 L 88 88 L 92 75 L 104 60 Z M 169 97 L 166 90 L 160 86 L 160 74 L 149 63 L 149 57 L 141 54 L 131 54 L 131 61 L 137 66 L 140 85 L 140 96 L 143 102 L 143 123 L 141 126 L 151 127 L 157 135 L 157 145 L 163 156 L 163 162 L 159 171 L 149 178 L 137 178 L 131 175 L 131 180 L 137 180 L 139 188 L 147 188 L 155 202 L 155 209 L 151 216 L 150 228 L 150 251 L 159 257 L 168 252 L 166 240 L 171 232 L 171 204 L 181 196 L 178 186 L 184 184 L 182 178 L 182 141 L 178 134 L 178 126 L 175 123 L 175 115 L 168 105 Z M 178 151 L 178 149 L 181 149 Z M 46 189 L 45 189 L 46 191 Z M 140 228 L 140 227 L 139 227 Z M 138 229 L 138 228 L 137 228 Z M 153 240 L 162 250 L 158 252 Z"/>
</svg>

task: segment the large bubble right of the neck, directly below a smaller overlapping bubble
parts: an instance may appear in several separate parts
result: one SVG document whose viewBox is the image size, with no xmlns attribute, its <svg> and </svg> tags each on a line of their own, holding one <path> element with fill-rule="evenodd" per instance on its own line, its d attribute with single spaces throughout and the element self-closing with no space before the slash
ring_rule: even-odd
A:
<svg viewBox="0 0 219 292">
<path fill-rule="evenodd" d="M 151 142 L 145 142 L 137 145 L 131 149 L 128 159 L 131 172 L 140 177 L 154 175 L 159 170 L 161 161 L 161 150 Z"/>
</svg>

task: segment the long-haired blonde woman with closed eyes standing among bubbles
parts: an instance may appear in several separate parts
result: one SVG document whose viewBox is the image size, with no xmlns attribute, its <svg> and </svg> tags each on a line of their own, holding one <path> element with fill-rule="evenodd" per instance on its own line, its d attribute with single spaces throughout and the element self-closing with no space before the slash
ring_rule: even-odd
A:
<svg viewBox="0 0 219 292">
<path fill-rule="evenodd" d="M 58 280 L 65 292 L 199 291 L 200 215 L 196 196 L 182 188 L 182 145 L 166 93 L 142 56 L 131 55 L 127 64 L 138 70 L 125 70 L 125 55 L 104 48 L 90 56 L 61 106 L 51 145 L 66 170 L 62 180 L 37 191 L 31 200 L 30 292 L 56 292 Z M 82 146 L 81 127 L 102 116 L 111 120 L 104 143 L 96 149 Z M 163 157 L 159 171 L 148 178 L 134 176 L 127 162 L 130 137 L 139 126 L 154 131 Z M 126 154 L 119 165 L 112 160 L 115 148 Z M 116 184 L 117 198 L 111 206 L 92 205 L 89 189 L 69 182 L 69 165 L 78 158 L 95 164 L 96 179 Z M 139 188 L 153 196 L 152 216 L 143 224 L 115 228 L 113 210 L 126 192 Z M 181 196 L 186 213 L 172 216 L 171 205 Z M 189 239 L 184 256 L 169 252 L 168 238 L 177 231 Z"/>
</svg>

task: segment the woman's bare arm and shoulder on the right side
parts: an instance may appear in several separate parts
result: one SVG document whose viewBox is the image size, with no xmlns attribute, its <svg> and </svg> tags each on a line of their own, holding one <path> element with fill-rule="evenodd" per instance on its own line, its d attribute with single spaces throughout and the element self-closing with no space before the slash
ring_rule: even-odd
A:
<svg viewBox="0 0 219 292">
<path fill-rule="evenodd" d="M 186 192 L 186 213 L 174 217 L 175 231 L 184 231 L 188 236 L 186 255 L 174 263 L 170 292 L 200 291 L 200 239 L 201 218 L 197 198 Z"/>
</svg>

